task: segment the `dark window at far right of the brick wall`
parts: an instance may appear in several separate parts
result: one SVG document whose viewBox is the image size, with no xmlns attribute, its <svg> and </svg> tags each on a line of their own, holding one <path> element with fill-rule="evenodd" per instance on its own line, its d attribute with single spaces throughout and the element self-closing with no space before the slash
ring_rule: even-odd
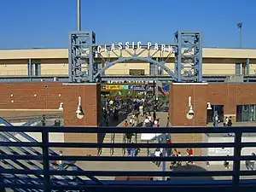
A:
<svg viewBox="0 0 256 192">
<path fill-rule="evenodd" d="M 236 121 L 248 122 L 256 121 L 256 104 L 246 104 L 236 106 Z"/>
</svg>

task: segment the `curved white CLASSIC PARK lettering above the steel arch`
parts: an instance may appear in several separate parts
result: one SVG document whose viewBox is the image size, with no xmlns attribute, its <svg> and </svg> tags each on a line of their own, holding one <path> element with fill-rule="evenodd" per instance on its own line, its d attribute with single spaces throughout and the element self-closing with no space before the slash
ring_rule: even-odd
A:
<svg viewBox="0 0 256 192">
<path fill-rule="evenodd" d="M 151 42 L 148 42 L 147 44 L 142 44 L 142 42 L 119 42 L 118 44 L 103 44 L 98 45 L 96 47 L 97 53 L 107 52 L 107 51 L 113 51 L 113 50 L 122 50 L 122 49 L 154 49 L 154 50 L 160 50 L 165 52 L 173 52 L 172 45 L 169 44 L 152 44 Z"/>
</svg>

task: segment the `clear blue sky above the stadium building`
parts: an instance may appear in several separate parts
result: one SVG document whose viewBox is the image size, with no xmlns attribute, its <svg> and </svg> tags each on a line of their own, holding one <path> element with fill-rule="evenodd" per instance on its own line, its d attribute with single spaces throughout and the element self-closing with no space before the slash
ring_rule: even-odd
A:
<svg viewBox="0 0 256 192">
<path fill-rule="evenodd" d="M 256 0 L 81 0 L 82 30 L 97 44 L 152 41 L 172 44 L 173 33 L 202 32 L 207 47 L 256 49 Z M 0 49 L 67 48 L 76 30 L 76 0 L 1 0 Z"/>
</svg>

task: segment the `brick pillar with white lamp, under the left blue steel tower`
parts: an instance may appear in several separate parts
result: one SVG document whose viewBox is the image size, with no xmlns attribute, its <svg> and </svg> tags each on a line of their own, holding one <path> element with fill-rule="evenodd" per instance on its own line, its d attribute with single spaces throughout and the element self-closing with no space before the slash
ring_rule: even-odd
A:
<svg viewBox="0 0 256 192">
<path fill-rule="evenodd" d="M 100 84 L 63 84 L 64 125 L 98 126 L 101 121 L 101 85 Z M 76 110 L 81 96 L 84 118 L 78 119 Z M 86 128 L 84 128 L 86 129 Z M 65 143 L 97 143 L 96 133 L 65 133 Z M 96 155 L 97 148 L 65 148 L 65 154 Z"/>
</svg>

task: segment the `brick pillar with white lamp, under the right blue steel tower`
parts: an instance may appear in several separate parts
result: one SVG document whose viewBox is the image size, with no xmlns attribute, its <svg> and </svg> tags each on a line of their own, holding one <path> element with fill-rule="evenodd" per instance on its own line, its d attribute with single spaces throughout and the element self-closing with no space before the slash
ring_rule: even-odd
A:
<svg viewBox="0 0 256 192">
<path fill-rule="evenodd" d="M 173 83 L 170 84 L 170 122 L 172 126 L 206 126 L 207 125 L 207 84 Z M 187 119 L 189 96 L 195 112 L 193 119 Z M 175 134 L 172 143 L 201 143 L 202 134 Z M 181 149 L 185 153 L 185 148 Z M 195 155 L 201 149 L 195 148 Z"/>
</svg>

